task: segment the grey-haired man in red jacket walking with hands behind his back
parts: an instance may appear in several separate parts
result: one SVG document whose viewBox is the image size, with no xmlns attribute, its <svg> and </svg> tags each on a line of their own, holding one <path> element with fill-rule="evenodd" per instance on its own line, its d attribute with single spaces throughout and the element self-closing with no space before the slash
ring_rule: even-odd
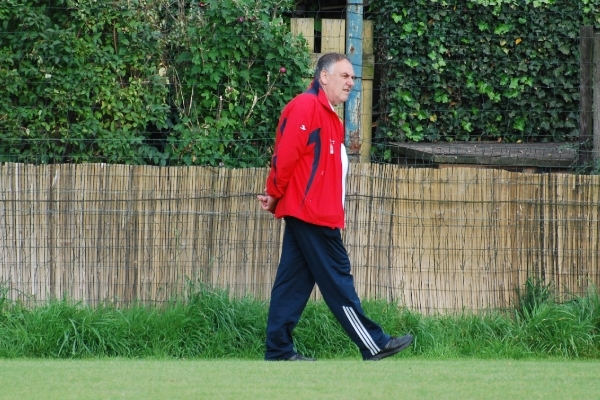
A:
<svg viewBox="0 0 600 400">
<path fill-rule="evenodd" d="M 341 239 L 348 156 L 333 106 L 348 100 L 354 78 L 346 56 L 323 55 L 310 88 L 290 101 L 279 119 L 265 195 L 258 196 L 264 210 L 285 220 L 266 360 L 314 361 L 295 351 L 292 331 L 315 283 L 364 360 L 394 355 L 413 340 L 411 335 L 390 337 L 365 316 Z"/>
</svg>

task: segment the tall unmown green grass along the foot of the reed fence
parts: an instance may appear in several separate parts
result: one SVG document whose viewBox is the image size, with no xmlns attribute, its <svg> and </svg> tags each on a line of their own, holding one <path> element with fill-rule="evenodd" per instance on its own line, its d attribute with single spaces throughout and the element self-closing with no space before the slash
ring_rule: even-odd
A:
<svg viewBox="0 0 600 400">
<path fill-rule="evenodd" d="M 527 286 L 529 285 L 529 286 Z M 598 358 L 600 295 L 558 302 L 529 281 L 514 312 L 423 316 L 382 301 L 367 315 L 391 334 L 412 333 L 402 357 Z M 0 290 L 0 357 L 263 357 L 268 304 L 232 299 L 224 290 L 190 285 L 185 299 L 160 306 L 88 307 L 68 299 L 28 308 Z M 319 358 L 359 358 L 327 306 L 309 302 L 295 330 L 297 350 Z"/>
</svg>

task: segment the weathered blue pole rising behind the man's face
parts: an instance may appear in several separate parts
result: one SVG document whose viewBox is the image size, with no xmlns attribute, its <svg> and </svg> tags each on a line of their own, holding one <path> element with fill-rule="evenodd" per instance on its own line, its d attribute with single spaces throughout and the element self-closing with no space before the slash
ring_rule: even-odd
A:
<svg viewBox="0 0 600 400">
<path fill-rule="evenodd" d="M 362 39 L 363 39 L 363 3 L 348 0 L 346 7 L 346 56 L 354 67 L 356 79 L 354 88 L 348 96 L 344 109 L 346 127 L 346 150 L 351 161 L 360 160 L 361 145 L 361 97 L 362 97 Z"/>
</svg>

